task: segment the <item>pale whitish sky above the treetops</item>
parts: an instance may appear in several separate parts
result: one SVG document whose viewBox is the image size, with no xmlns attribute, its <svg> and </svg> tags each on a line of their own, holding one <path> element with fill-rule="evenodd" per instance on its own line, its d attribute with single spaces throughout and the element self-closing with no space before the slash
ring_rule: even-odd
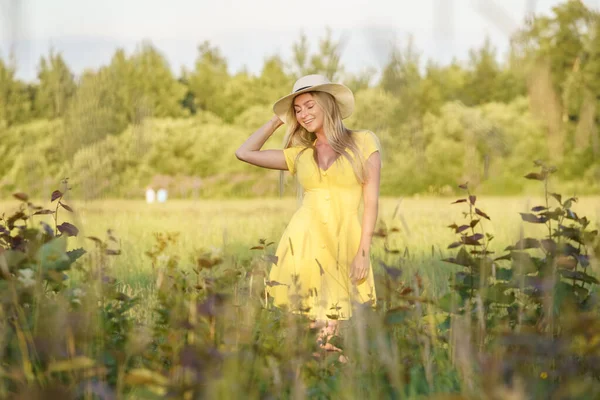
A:
<svg viewBox="0 0 600 400">
<path fill-rule="evenodd" d="M 0 56 L 15 55 L 17 75 L 36 78 L 50 47 L 73 72 L 110 62 L 119 47 L 151 41 L 175 74 L 193 68 L 200 43 L 209 40 L 231 73 L 259 73 L 265 58 L 289 60 L 301 33 L 316 51 L 330 28 L 343 43 L 350 73 L 380 70 L 390 49 L 409 37 L 422 59 L 467 59 L 486 37 L 499 57 L 530 12 L 548 14 L 561 0 L 0 0 Z M 585 0 L 599 9 L 600 0 Z"/>
</svg>

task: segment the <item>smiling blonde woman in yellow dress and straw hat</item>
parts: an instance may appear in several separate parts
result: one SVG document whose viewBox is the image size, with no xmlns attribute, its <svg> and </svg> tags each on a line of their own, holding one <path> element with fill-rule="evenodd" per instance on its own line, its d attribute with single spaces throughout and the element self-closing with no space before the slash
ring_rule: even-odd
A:
<svg viewBox="0 0 600 400">
<path fill-rule="evenodd" d="M 327 324 L 330 333 L 337 320 L 351 317 L 353 303 L 376 301 L 370 249 L 379 201 L 379 142 L 372 132 L 344 126 L 342 119 L 353 109 L 346 86 L 321 75 L 304 76 L 274 104 L 275 116 L 236 151 L 247 163 L 289 170 L 303 187 L 302 206 L 277 247 L 267 290 L 276 306 Z M 284 149 L 261 150 L 283 123 L 288 125 Z"/>
</svg>

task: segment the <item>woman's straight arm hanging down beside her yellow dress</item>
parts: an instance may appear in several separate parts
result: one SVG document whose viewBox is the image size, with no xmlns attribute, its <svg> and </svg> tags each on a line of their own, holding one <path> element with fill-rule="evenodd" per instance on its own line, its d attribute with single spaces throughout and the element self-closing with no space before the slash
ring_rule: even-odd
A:
<svg viewBox="0 0 600 400">
<path fill-rule="evenodd" d="M 371 251 L 371 239 L 377 223 L 379 212 L 379 180 L 381 175 L 381 155 L 374 152 L 367 160 L 367 181 L 363 185 L 364 212 L 360 245 L 358 253 L 352 262 L 350 279 L 358 283 L 367 277 L 369 273 L 369 253 Z"/>
</svg>

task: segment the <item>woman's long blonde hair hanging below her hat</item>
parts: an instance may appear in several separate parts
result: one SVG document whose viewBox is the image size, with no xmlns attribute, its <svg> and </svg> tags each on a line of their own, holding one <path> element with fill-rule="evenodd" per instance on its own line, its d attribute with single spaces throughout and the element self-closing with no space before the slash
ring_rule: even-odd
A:
<svg viewBox="0 0 600 400">
<path fill-rule="evenodd" d="M 340 157 L 345 157 L 348 160 L 354 170 L 357 181 L 362 185 L 366 180 L 365 160 L 352 136 L 352 130 L 346 128 L 342 122 L 340 109 L 335 98 L 326 92 L 315 91 L 308 93 L 313 96 L 315 102 L 323 109 L 323 127 L 329 144 Z M 288 128 L 284 138 L 283 148 L 287 149 L 288 147 L 293 146 L 312 148 L 315 163 L 319 165 L 317 149 L 313 144 L 317 136 L 314 133 L 308 132 L 298 123 L 293 103 L 286 115 L 286 121 L 288 123 Z M 346 149 L 352 151 L 354 157 L 351 157 Z M 298 153 L 296 161 L 303 151 L 304 150 Z M 317 169 L 319 174 L 321 174 L 321 169 Z"/>
</svg>

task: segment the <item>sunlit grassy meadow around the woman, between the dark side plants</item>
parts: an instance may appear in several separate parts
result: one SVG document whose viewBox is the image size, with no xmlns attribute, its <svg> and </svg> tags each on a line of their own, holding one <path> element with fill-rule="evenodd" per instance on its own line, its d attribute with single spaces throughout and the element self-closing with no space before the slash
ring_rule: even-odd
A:
<svg viewBox="0 0 600 400">
<path fill-rule="evenodd" d="M 486 339 L 484 347 L 492 347 L 486 350 L 487 364 L 482 364 L 484 348 L 471 343 L 480 325 L 469 319 L 468 311 L 466 316 L 450 317 L 447 299 L 457 272 L 464 268 L 442 259 L 457 254 L 457 249 L 448 249 L 456 237 L 448 226 L 465 223 L 463 212 L 468 207 L 451 204 L 459 197 L 381 199 L 371 254 L 378 306 L 375 312 L 358 309 L 333 340 L 348 357 L 346 363 L 339 361 L 338 352 L 319 353 L 316 331 L 307 321 L 274 309 L 264 297 L 268 255 L 275 252 L 296 210 L 296 199 L 146 204 L 63 198 L 60 201 L 74 212 L 58 207 L 59 223 L 68 221 L 79 228 L 77 236 L 68 239 L 68 248 L 83 247 L 88 254 L 65 271 L 68 279 L 60 293 L 71 302 L 70 312 L 81 306 L 90 320 L 72 326 L 75 331 L 86 326 L 87 333 L 74 334 L 69 357 L 61 361 L 55 354 L 48 356 L 53 361 L 39 386 L 31 384 L 37 382 L 35 374 L 30 373 L 29 381 L 24 378 L 23 367 L 24 393 L 48 393 L 60 382 L 63 392 L 58 393 L 84 393 L 87 398 L 115 398 L 102 393 L 132 399 L 433 398 L 453 393 L 456 397 L 449 398 L 520 399 L 558 388 L 562 389 L 556 398 L 571 396 L 572 386 L 561 385 L 562 378 L 552 382 L 539 378 L 549 369 L 539 360 L 533 366 L 539 383 L 522 384 L 515 378 L 506 384 L 502 372 L 506 363 L 518 369 L 514 363 L 521 361 L 502 355 L 501 346 Z M 505 254 L 505 248 L 520 238 L 547 234 L 544 224 L 525 224 L 519 215 L 544 201 L 539 196 L 476 199 L 490 218 L 481 218 L 478 229 L 493 235 L 487 248 L 493 257 Z M 49 199 L 32 202 L 52 210 L 56 204 Z M 17 208 L 16 200 L 0 203 L 5 215 Z M 600 198 L 579 198 L 572 209 L 597 228 Z M 51 217 L 34 216 L 28 223 L 35 227 L 45 221 L 54 227 Z M 273 243 L 265 246 L 269 242 Z M 260 248 L 252 249 L 255 246 Z M 598 268 L 592 258 L 587 273 L 597 276 Z M 59 292 L 47 293 L 49 304 L 58 301 Z M 65 303 L 57 304 L 62 307 L 60 315 L 67 313 Z M 63 322 L 71 326 L 70 314 L 65 315 Z M 34 325 L 44 335 L 62 329 L 56 313 L 41 312 L 36 318 Z M 97 324 L 91 331 L 90 321 Z M 484 336 L 493 337 L 494 324 L 485 325 L 489 332 Z M 69 342 L 60 334 L 53 340 Z M 490 364 L 494 359 L 502 360 L 501 365 Z M 484 366 L 489 368 L 486 373 L 481 370 Z M 18 381 L 15 377 L 21 375 L 15 371 L 20 369 L 12 368 L 13 375 L 7 376 Z M 59 378 L 54 381 L 50 376 Z M 573 398 L 598 393 L 590 391 L 597 389 L 593 382 L 587 384 Z M 481 388 L 486 390 L 482 397 Z M 3 394 L 14 390 L 6 381 L 0 388 Z"/>
</svg>

